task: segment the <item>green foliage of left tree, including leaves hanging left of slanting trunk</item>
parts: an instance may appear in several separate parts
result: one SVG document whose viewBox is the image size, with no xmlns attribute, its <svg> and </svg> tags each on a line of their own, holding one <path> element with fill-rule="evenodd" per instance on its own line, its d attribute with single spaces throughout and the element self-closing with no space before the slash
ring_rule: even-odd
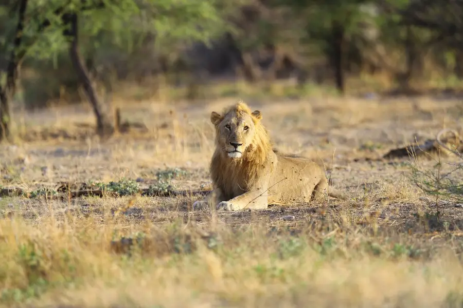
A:
<svg viewBox="0 0 463 308">
<path fill-rule="evenodd" d="M 142 43 L 146 45 L 147 40 L 158 53 L 164 54 L 192 42 L 208 42 L 233 28 L 224 17 L 235 10 L 234 4 L 240 1 L 29 1 L 23 42 L 16 50 L 26 52 L 26 67 L 32 67 L 37 73 L 23 84 L 26 102 L 43 103 L 58 97 L 63 75 L 68 79 L 67 88 L 77 94 L 77 79 L 68 60 L 68 37 L 63 35 L 68 27 L 63 14 L 77 12 L 81 53 L 84 59 L 98 60 L 100 57 L 101 64 L 108 62 L 109 52 L 130 55 Z M 0 33 L 0 53 L 8 55 L 13 48 L 17 12 L 15 14 L 8 4 L 0 5 L 0 20 L 0 27 L 5 29 Z M 55 70 L 53 77 L 60 76 L 58 85 L 50 80 L 42 82 L 42 75 L 50 66 Z M 64 70 L 58 71 L 58 67 Z M 0 81 L 3 78 L 0 75 Z"/>
</svg>

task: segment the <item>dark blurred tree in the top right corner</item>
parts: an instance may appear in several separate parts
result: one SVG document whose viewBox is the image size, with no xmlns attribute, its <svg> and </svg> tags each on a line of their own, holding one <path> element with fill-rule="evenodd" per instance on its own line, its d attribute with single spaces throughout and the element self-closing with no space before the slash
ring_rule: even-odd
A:
<svg viewBox="0 0 463 308">
<path fill-rule="evenodd" d="M 453 66 L 453 73 L 459 78 L 463 76 L 463 37 L 460 34 L 463 2 L 386 0 L 381 2 L 381 8 L 389 16 L 385 18 L 384 30 L 389 32 L 390 41 L 401 45 L 405 51 L 402 84 L 407 86 L 414 73 L 422 75 L 424 56 L 437 60 L 444 69 Z M 417 68 L 419 71 L 415 71 Z"/>
</svg>

